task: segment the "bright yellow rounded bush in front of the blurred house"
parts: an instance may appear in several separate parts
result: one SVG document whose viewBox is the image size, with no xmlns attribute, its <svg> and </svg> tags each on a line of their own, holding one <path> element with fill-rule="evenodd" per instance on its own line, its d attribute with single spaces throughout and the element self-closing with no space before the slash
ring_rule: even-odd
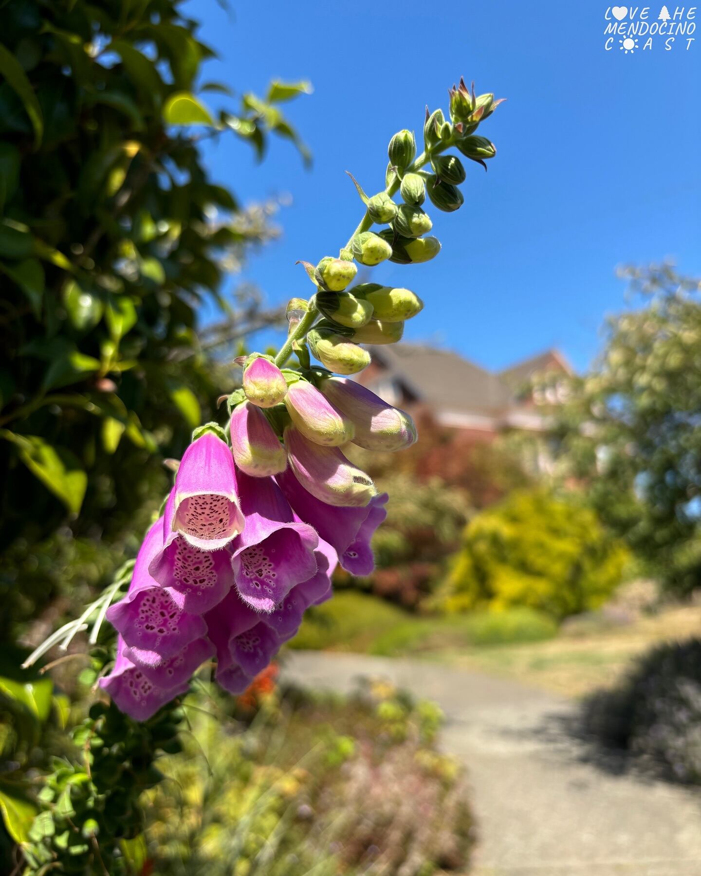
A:
<svg viewBox="0 0 701 876">
<path fill-rule="evenodd" d="M 564 618 L 603 604 L 626 562 L 579 498 L 515 491 L 466 526 L 436 601 L 446 611 L 524 605 Z"/>
</svg>

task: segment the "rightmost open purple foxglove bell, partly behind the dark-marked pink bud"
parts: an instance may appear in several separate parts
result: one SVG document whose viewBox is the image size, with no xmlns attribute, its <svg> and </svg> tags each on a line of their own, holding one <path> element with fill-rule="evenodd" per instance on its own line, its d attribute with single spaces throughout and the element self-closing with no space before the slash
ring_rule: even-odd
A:
<svg viewBox="0 0 701 876">
<path fill-rule="evenodd" d="M 373 496 L 365 508 L 338 508 L 315 498 L 290 470 L 276 477 L 295 514 L 305 520 L 336 551 L 343 569 L 353 575 L 372 572 L 372 535 L 386 518 L 387 494 Z"/>
</svg>

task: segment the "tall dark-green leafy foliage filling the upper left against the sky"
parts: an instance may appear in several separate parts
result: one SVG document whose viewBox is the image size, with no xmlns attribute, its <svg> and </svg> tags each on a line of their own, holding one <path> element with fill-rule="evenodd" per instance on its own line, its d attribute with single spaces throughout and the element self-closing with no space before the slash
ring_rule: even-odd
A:
<svg viewBox="0 0 701 876">
<path fill-rule="evenodd" d="M 0 590 L 20 617 L 35 583 L 56 592 L 56 555 L 67 585 L 102 582 L 83 539 L 124 549 L 133 514 L 166 490 L 162 456 L 230 388 L 209 350 L 258 324 L 250 289 L 220 287 L 275 233 L 270 210 L 209 179 L 202 139 L 235 134 L 262 156 L 275 132 L 307 156 L 280 103 L 308 84 L 215 114 L 203 95 L 231 103 L 230 89 L 202 81 L 213 53 L 180 7 L 0 11 Z M 223 321 L 200 331 L 204 306 Z"/>
</svg>

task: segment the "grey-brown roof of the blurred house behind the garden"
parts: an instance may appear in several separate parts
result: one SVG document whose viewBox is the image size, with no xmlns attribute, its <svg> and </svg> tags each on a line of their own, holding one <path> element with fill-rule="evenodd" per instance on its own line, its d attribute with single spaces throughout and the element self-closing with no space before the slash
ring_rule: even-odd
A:
<svg viewBox="0 0 701 876">
<path fill-rule="evenodd" d="M 397 343 L 372 347 L 373 360 L 384 366 L 409 398 L 438 411 L 455 413 L 506 413 L 520 406 L 517 392 L 528 377 L 556 357 L 563 370 L 570 366 L 549 350 L 500 373 L 487 371 L 451 350 L 424 344 Z"/>
</svg>

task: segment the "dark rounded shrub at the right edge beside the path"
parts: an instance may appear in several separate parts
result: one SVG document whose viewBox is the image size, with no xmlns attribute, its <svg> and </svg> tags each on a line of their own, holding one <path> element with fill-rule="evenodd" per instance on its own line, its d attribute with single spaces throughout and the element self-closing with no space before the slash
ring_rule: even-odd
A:
<svg viewBox="0 0 701 876">
<path fill-rule="evenodd" d="M 701 639 L 656 647 L 617 688 L 591 696 L 584 728 L 677 781 L 701 784 Z"/>
</svg>

